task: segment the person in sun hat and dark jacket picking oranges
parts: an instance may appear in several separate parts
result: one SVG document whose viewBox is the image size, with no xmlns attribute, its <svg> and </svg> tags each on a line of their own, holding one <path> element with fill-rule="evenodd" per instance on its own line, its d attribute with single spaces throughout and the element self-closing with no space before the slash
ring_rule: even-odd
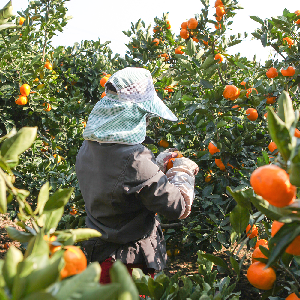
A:
<svg viewBox="0 0 300 300">
<path fill-rule="evenodd" d="M 154 277 L 166 267 L 167 248 L 155 213 L 169 220 L 190 213 L 195 175 L 192 160 L 170 148 L 157 158 L 142 143 L 150 117 L 177 121 L 158 97 L 149 70 L 125 68 L 105 83 L 106 95 L 91 111 L 76 157 L 76 174 L 87 213 L 86 226 L 100 238 L 83 242 L 88 261 L 101 263 L 101 283 L 120 259 L 128 270 Z M 175 158 L 173 167 L 167 164 Z M 167 171 L 167 172 L 166 172 Z"/>
</svg>

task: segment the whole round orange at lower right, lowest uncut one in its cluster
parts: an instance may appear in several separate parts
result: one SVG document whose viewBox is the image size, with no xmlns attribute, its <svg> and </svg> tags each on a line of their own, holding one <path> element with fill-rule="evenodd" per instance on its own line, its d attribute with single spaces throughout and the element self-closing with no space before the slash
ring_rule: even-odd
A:
<svg viewBox="0 0 300 300">
<path fill-rule="evenodd" d="M 257 289 L 271 289 L 276 280 L 274 269 L 265 267 L 266 264 L 263 262 L 254 262 L 247 270 L 249 282 Z"/>
</svg>

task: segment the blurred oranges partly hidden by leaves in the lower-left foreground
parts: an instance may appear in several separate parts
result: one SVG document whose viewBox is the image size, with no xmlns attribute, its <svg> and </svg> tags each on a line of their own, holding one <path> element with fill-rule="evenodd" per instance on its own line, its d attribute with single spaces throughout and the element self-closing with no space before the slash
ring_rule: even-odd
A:
<svg viewBox="0 0 300 300">
<path fill-rule="evenodd" d="M 52 235 L 44 235 L 44 240 L 49 244 L 50 256 L 52 256 L 56 251 L 63 249 L 64 262 L 65 265 L 60 271 L 60 279 L 67 278 L 72 275 L 81 273 L 86 269 L 87 260 L 85 254 L 76 246 L 63 246 L 57 241 L 57 237 Z"/>
</svg>

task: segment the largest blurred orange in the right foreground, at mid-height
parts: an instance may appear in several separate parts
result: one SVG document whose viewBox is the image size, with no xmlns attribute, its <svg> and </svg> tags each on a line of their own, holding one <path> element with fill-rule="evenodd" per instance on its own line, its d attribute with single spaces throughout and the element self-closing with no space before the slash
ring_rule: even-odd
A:
<svg viewBox="0 0 300 300">
<path fill-rule="evenodd" d="M 294 202 L 297 188 L 285 170 L 273 164 L 258 167 L 250 176 L 254 192 L 271 205 L 284 207 Z"/>
</svg>

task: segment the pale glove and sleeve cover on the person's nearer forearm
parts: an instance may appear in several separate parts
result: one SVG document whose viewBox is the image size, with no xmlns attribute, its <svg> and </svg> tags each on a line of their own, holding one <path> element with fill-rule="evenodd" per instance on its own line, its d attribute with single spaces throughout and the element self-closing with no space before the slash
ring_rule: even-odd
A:
<svg viewBox="0 0 300 300">
<path fill-rule="evenodd" d="M 195 199 L 195 175 L 198 171 L 198 165 L 191 159 L 179 157 L 174 160 L 173 167 L 166 173 L 169 182 L 176 185 L 184 198 L 185 211 L 180 219 L 184 219 L 190 214 L 190 209 Z"/>
</svg>

